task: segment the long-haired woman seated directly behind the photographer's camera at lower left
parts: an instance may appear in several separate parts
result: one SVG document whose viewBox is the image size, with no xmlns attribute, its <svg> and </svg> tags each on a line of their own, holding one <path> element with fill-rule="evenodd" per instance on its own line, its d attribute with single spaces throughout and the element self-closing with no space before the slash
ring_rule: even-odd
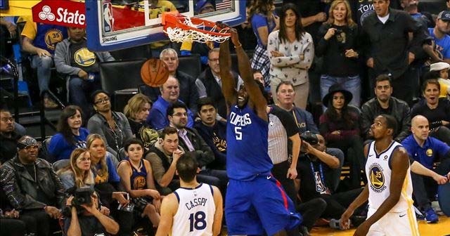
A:
<svg viewBox="0 0 450 236">
<path fill-rule="evenodd" d="M 75 148 L 70 154 L 68 165 L 57 173 L 65 190 L 74 187 L 93 187 L 94 173 L 91 171 L 91 153 L 85 148 Z"/>
</svg>

